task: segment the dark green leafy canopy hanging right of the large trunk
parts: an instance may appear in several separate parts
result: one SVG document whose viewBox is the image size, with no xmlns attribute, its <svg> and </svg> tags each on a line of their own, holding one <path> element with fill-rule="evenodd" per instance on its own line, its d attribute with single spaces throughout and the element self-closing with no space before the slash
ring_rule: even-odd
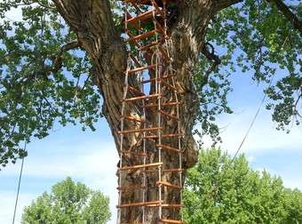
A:
<svg viewBox="0 0 302 224">
<path fill-rule="evenodd" d="M 301 4 L 293 1 L 289 6 L 302 20 Z M 272 99 L 267 108 L 273 110 L 276 127 L 288 131 L 288 125 L 299 124 L 301 120 L 301 91 L 297 89 L 298 81 L 302 77 L 301 37 L 302 34 L 293 28 L 274 4 L 269 1 L 247 0 L 218 12 L 211 20 L 206 40 L 215 46 L 215 53 L 222 60 L 215 74 L 221 74 L 223 70 L 242 74 L 251 72 L 255 81 L 268 84 L 277 74 L 277 70 L 278 74 L 282 72 L 282 76 L 274 77 L 273 85 L 266 91 L 267 96 Z M 203 76 L 208 68 L 209 63 L 201 60 L 201 68 L 196 76 L 197 88 L 199 83 L 203 83 Z M 211 75 L 212 80 L 209 82 L 212 85 L 200 88 L 202 101 L 219 99 L 219 106 L 227 108 L 225 93 L 231 90 L 231 84 L 225 82 L 224 86 L 219 86 L 222 93 L 215 91 L 215 88 L 211 90 L 216 86 L 213 85 L 214 82 L 224 82 L 215 74 Z M 203 104 L 204 102 L 202 109 Z M 221 112 L 221 109 L 217 112 Z M 206 116 L 207 114 L 210 116 Z M 212 116 L 215 113 L 211 115 L 208 108 L 203 109 L 200 121 L 205 130 L 215 125 L 209 123 L 209 120 L 214 119 Z M 214 130 L 216 132 L 219 129 Z M 217 133 L 214 136 L 216 135 Z"/>
</svg>

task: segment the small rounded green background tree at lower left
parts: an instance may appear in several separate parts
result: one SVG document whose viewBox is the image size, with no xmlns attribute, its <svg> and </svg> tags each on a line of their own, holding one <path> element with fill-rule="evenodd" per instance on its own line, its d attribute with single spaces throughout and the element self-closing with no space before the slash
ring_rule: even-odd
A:
<svg viewBox="0 0 302 224">
<path fill-rule="evenodd" d="M 52 186 L 24 208 L 22 224 L 106 223 L 110 219 L 109 198 L 84 184 L 67 178 Z"/>
</svg>

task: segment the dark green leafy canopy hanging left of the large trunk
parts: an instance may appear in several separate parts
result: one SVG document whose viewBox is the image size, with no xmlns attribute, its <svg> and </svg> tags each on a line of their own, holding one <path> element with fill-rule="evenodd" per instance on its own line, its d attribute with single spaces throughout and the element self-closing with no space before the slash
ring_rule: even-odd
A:
<svg viewBox="0 0 302 224">
<path fill-rule="evenodd" d="M 7 12 L 22 13 L 12 20 Z M 94 130 L 101 116 L 91 63 L 48 1 L 0 4 L 0 164 L 27 155 L 20 148 L 42 139 L 55 123 Z"/>
</svg>

